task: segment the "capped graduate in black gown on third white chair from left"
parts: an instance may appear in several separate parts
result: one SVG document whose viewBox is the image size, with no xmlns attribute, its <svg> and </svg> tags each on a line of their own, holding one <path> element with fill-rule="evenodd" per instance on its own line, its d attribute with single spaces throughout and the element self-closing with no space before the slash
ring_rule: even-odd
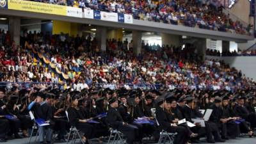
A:
<svg viewBox="0 0 256 144">
<path fill-rule="evenodd" d="M 125 134 L 125 137 L 127 138 L 126 142 L 128 144 L 133 144 L 136 138 L 135 128 L 124 122 L 122 116 L 117 109 L 118 100 L 113 97 L 109 99 L 108 103 L 110 105 L 107 114 L 108 124 L 113 129 L 117 129 L 118 131 L 121 131 L 123 134 Z"/>
</svg>

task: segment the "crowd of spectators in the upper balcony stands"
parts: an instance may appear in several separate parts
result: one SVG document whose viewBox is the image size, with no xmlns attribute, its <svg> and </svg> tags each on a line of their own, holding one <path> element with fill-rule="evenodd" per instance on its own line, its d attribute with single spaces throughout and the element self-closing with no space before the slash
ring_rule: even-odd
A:
<svg viewBox="0 0 256 144">
<path fill-rule="evenodd" d="M 170 0 L 170 1 L 136 1 L 136 0 L 34 0 L 43 3 L 61 4 L 79 8 L 91 8 L 106 12 L 132 14 L 134 19 L 183 24 L 184 26 L 230 33 L 248 34 L 252 26 L 243 26 L 239 20 L 232 20 L 222 12 L 221 4 L 210 0 Z"/>
</svg>

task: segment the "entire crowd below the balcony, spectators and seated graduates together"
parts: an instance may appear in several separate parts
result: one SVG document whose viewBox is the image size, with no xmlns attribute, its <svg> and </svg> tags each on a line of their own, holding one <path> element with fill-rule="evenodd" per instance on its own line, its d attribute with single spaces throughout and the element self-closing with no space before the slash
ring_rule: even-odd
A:
<svg viewBox="0 0 256 144">
<path fill-rule="evenodd" d="M 84 143 L 104 141 L 109 127 L 129 144 L 154 143 L 162 130 L 177 132 L 175 144 L 253 137 L 255 82 L 223 61 L 202 61 L 194 45 L 143 42 L 135 56 L 132 41 L 107 40 L 100 51 L 91 35 L 26 30 L 21 46 L 1 31 L 0 45 L 0 141 L 29 136 L 29 111 L 49 124 L 38 126 L 40 143 L 52 143 L 52 132 L 69 140 L 70 126 L 83 132 Z M 208 108 L 205 127 L 193 122 Z M 178 125 L 183 118 L 195 125 Z"/>
</svg>

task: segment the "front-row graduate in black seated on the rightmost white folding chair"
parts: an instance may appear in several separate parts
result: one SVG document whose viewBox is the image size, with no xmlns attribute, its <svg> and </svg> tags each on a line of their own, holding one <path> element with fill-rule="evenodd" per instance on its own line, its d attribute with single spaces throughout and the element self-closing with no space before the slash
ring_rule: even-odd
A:
<svg viewBox="0 0 256 144">
<path fill-rule="evenodd" d="M 157 107 L 156 109 L 156 120 L 159 123 L 159 128 L 167 132 L 172 132 L 172 133 L 177 132 L 177 135 L 175 136 L 173 141 L 174 144 L 188 143 L 189 131 L 185 127 L 182 127 L 173 123 L 172 119 L 170 118 L 170 113 L 169 113 L 171 109 L 170 100 L 164 101 L 164 98 L 163 98 L 162 100 L 157 100 L 157 104 L 159 105 L 159 107 Z"/>
</svg>

